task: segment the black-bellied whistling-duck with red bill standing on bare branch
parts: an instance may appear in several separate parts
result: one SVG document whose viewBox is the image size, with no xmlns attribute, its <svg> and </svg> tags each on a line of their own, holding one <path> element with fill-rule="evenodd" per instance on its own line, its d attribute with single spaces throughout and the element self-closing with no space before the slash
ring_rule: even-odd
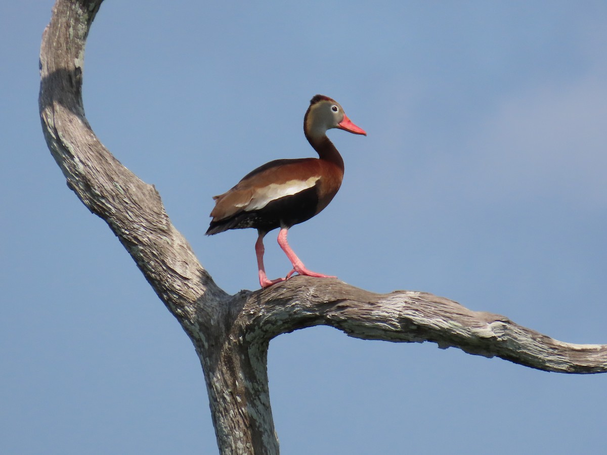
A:
<svg viewBox="0 0 607 455">
<path fill-rule="evenodd" d="M 255 252 L 262 288 L 287 280 L 295 272 L 310 277 L 334 278 L 312 272 L 287 243 L 293 224 L 309 220 L 331 202 L 344 178 L 344 160 L 327 137 L 327 130 L 339 128 L 367 135 L 345 115 L 339 103 L 323 95 L 310 100 L 304 116 L 304 133 L 319 158 L 270 161 L 249 172 L 228 192 L 215 196 L 211 226 L 206 235 L 255 227 Z M 287 277 L 268 280 L 263 268 L 263 237 L 280 227 L 278 243 L 293 264 Z"/>
</svg>

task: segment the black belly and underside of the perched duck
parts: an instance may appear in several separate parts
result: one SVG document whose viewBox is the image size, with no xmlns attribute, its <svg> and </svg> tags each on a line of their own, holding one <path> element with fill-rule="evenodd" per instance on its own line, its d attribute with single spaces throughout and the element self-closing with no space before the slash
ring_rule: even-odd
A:
<svg viewBox="0 0 607 455">
<path fill-rule="evenodd" d="M 265 207 L 251 212 L 240 212 L 226 220 L 211 221 L 206 234 L 217 234 L 228 229 L 254 227 L 270 232 L 277 227 L 291 227 L 293 224 L 310 220 L 316 214 L 318 193 L 316 186 L 285 196 L 268 203 Z"/>
</svg>

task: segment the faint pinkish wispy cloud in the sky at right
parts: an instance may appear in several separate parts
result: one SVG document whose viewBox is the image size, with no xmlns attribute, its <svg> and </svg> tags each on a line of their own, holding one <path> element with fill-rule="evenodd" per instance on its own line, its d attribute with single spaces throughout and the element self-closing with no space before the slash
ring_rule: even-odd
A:
<svg viewBox="0 0 607 455">
<path fill-rule="evenodd" d="M 480 197 L 607 206 L 607 78 L 595 72 L 505 99 L 467 148 Z"/>
</svg>

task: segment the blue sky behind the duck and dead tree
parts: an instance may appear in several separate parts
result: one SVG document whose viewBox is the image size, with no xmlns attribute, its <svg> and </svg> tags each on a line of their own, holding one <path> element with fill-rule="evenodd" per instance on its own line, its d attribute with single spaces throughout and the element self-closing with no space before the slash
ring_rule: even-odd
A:
<svg viewBox="0 0 607 455">
<path fill-rule="evenodd" d="M 216 453 L 202 370 L 178 323 L 67 189 L 38 119 L 51 1 L 0 5 L 0 452 Z M 205 237 L 212 195 L 266 161 L 313 156 L 308 101 L 342 188 L 290 243 L 315 271 L 607 343 L 607 4 L 106 2 L 84 106 L 160 191 L 228 292 L 256 289 L 251 230 Z M 266 269 L 290 269 L 266 240 Z M 534 371 L 330 328 L 270 345 L 284 454 L 591 453 L 607 376 Z"/>
</svg>

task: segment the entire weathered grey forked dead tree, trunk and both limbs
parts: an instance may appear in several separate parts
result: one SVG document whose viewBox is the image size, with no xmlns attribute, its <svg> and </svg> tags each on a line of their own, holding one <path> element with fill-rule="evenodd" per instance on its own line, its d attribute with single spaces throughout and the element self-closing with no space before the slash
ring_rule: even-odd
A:
<svg viewBox="0 0 607 455">
<path fill-rule="evenodd" d="M 171 224 L 154 186 L 114 158 L 84 116 L 84 45 L 102 1 L 57 0 L 53 7 L 40 53 L 42 130 L 70 189 L 106 221 L 194 343 L 221 453 L 279 453 L 268 344 L 314 325 L 361 339 L 435 342 L 544 371 L 607 371 L 607 345 L 558 342 L 425 292 L 374 294 L 333 278 L 297 276 L 226 294 Z"/>
</svg>

